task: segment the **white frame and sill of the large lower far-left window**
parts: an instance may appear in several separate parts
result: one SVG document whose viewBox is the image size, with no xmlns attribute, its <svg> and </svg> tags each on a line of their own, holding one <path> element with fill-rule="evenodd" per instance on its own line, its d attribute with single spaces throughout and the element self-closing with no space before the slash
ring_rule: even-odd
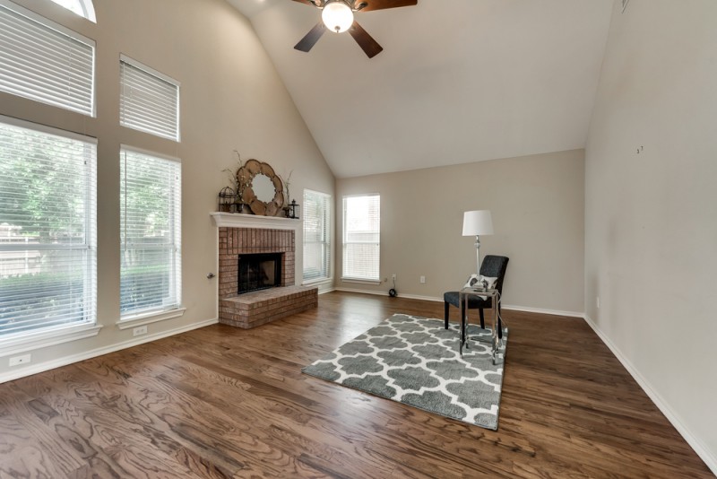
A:
<svg viewBox="0 0 717 479">
<path fill-rule="evenodd" d="M 82 152 L 82 159 L 86 165 L 83 175 L 86 176 L 85 191 L 82 198 L 84 202 L 83 222 L 84 231 L 82 233 L 82 244 L 53 246 L 53 243 L 39 243 L 38 248 L 3 248 L 0 245 L 0 251 L 69 251 L 82 250 L 86 251 L 83 255 L 82 264 L 82 282 L 83 282 L 83 314 L 80 320 L 76 320 L 67 324 L 59 324 L 48 327 L 35 327 L 29 330 L 11 333 L 8 335 L 0 335 L 0 355 L 10 355 L 15 353 L 23 353 L 41 347 L 48 347 L 56 344 L 63 344 L 69 341 L 92 337 L 99 334 L 101 326 L 97 320 L 97 139 L 91 136 L 79 135 L 73 132 L 44 126 L 18 118 L 9 118 L 0 115 L 0 123 L 6 126 L 14 126 L 30 130 L 42 135 L 60 136 L 65 139 L 81 142 L 85 145 Z M 88 151 L 88 146 L 91 149 Z M 8 247 L 10 245 L 7 245 Z"/>
</svg>

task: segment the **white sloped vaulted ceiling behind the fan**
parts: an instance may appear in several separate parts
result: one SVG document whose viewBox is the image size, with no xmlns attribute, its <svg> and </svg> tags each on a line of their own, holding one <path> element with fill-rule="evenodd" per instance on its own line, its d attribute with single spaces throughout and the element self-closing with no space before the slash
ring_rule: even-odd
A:
<svg viewBox="0 0 717 479">
<path fill-rule="evenodd" d="M 320 19 L 291 0 L 228 0 L 254 25 L 337 178 L 584 148 L 613 0 L 419 0 Z"/>
</svg>

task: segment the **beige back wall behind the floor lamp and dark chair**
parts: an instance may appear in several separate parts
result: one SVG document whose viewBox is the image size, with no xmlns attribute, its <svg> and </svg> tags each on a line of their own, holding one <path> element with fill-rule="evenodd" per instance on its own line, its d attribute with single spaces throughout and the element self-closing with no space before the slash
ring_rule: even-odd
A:
<svg viewBox="0 0 717 479">
<path fill-rule="evenodd" d="M 481 237 L 481 257 L 510 257 L 504 304 L 583 313 L 583 150 L 479 161 L 336 182 L 336 284 L 399 295 L 443 298 L 476 269 L 475 237 L 462 236 L 463 212 L 488 209 L 495 235 Z M 381 277 L 341 281 L 345 195 L 381 195 Z M 426 283 L 419 277 L 426 276 Z"/>
</svg>

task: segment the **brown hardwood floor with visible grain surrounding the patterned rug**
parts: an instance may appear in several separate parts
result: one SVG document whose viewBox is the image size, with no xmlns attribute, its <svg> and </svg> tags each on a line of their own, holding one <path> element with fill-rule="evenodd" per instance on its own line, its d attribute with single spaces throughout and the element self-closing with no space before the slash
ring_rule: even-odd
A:
<svg viewBox="0 0 717 479">
<path fill-rule="evenodd" d="M 300 372 L 395 312 L 443 303 L 332 292 L 0 385 L 0 477 L 713 477 L 579 318 L 504 311 L 498 431 Z"/>
</svg>

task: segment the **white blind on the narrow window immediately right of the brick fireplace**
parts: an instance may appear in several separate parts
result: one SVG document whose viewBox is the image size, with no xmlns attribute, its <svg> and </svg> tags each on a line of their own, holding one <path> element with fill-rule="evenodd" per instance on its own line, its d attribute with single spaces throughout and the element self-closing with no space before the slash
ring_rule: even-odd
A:
<svg viewBox="0 0 717 479">
<path fill-rule="evenodd" d="M 304 282 L 331 276 L 331 195 L 304 190 Z"/>
</svg>

